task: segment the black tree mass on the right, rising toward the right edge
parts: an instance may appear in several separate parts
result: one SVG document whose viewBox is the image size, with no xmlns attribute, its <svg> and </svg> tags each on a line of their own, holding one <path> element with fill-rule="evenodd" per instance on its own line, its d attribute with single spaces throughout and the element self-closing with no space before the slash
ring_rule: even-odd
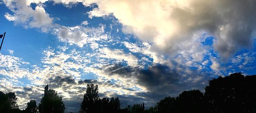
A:
<svg viewBox="0 0 256 113">
<path fill-rule="evenodd" d="M 256 75 L 209 80 L 205 93 L 191 90 L 165 97 L 149 113 L 256 113 Z"/>
</svg>

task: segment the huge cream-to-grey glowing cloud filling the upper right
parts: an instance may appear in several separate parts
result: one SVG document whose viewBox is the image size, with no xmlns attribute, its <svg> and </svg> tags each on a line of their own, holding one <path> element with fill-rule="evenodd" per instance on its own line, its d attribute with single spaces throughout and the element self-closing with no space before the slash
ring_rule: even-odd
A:
<svg viewBox="0 0 256 113">
<path fill-rule="evenodd" d="M 154 42 L 158 49 L 170 54 L 182 49 L 177 45 L 190 40 L 198 31 L 216 37 L 214 48 L 224 58 L 240 47 L 251 47 L 254 39 L 254 0 L 110 0 L 94 3 L 99 7 L 89 12 L 90 17 L 113 14 L 124 25 L 123 32 Z"/>
</svg>

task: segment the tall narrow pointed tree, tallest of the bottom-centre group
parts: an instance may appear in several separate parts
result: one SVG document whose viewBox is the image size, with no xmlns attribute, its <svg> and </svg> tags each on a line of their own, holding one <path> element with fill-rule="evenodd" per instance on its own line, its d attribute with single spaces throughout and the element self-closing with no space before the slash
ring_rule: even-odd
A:
<svg viewBox="0 0 256 113">
<path fill-rule="evenodd" d="M 85 113 L 100 113 L 101 102 L 98 95 L 98 85 L 87 84 L 86 93 L 81 103 L 81 112 Z"/>
</svg>

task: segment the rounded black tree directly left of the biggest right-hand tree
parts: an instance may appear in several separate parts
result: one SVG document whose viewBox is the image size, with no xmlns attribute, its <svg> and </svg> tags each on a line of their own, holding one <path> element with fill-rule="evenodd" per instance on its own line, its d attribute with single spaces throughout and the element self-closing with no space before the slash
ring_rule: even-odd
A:
<svg viewBox="0 0 256 113">
<path fill-rule="evenodd" d="M 206 113 L 204 94 L 199 90 L 183 91 L 176 97 L 176 113 Z"/>
</svg>

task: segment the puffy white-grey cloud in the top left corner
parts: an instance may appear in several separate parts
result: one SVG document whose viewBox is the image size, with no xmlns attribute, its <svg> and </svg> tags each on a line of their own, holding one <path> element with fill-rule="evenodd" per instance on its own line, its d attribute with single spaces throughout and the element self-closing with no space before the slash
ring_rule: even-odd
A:
<svg viewBox="0 0 256 113">
<path fill-rule="evenodd" d="M 43 6 L 36 6 L 33 10 L 29 0 L 3 0 L 7 8 L 14 14 L 5 14 L 9 21 L 14 21 L 25 28 L 39 28 L 42 32 L 48 32 L 54 28 L 53 19 L 49 17 Z"/>
</svg>

